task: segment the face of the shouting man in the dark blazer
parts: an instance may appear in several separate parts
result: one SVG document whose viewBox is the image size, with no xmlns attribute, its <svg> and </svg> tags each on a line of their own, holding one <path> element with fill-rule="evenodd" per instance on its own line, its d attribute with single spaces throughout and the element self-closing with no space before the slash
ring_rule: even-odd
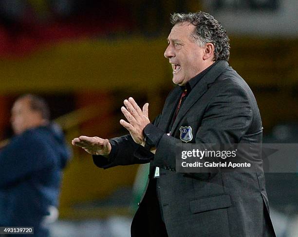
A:
<svg viewBox="0 0 298 237">
<path fill-rule="evenodd" d="M 168 36 L 165 57 L 173 68 L 173 82 L 185 85 L 205 68 L 203 65 L 204 48 L 193 38 L 195 26 L 189 22 L 174 25 Z"/>
</svg>

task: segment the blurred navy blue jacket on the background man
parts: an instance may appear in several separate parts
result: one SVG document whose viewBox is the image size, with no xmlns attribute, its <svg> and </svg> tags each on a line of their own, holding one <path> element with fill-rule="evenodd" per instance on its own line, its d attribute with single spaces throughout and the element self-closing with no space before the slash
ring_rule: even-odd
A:
<svg viewBox="0 0 298 237">
<path fill-rule="evenodd" d="M 57 125 L 29 129 L 0 150 L 0 226 L 35 226 L 58 205 L 70 151 Z"/>
</svg>

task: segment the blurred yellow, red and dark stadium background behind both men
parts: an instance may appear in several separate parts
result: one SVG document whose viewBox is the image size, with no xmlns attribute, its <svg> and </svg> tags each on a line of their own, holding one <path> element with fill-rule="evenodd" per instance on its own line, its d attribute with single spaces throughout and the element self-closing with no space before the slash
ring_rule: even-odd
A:
<svg viewBox="0 0 298 237">
<path fill-rule="evenodd" d="M 226 28 L 230 65 L 256 96 L 264 141 L 298 142 L 297 0 L 1 0 L 0 139 L 12 136 L 10 109 L 24 93 L 47 100 L 69 141 L 125 134 L 129 96 L 148 101 L 153 119 L 173 87 L 163 56 L 169 15 L 198 10 Z M 101 170 L 73 152 L 52 235 L 130 236 L 146 167 Z M 267 189 L 278 236 L 297 237 L 297 174 L 267 175 Z"/>
</svg>

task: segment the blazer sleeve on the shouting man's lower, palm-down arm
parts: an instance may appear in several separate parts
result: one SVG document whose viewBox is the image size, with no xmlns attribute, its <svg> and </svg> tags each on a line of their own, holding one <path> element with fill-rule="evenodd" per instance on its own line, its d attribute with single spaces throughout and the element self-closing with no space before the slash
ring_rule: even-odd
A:
<svg viewBox="0 0 298 237">
<path fill-rule="evenodd" d="M 153 124 L 158 125 L 160 115 L 154 119 Z M 144 164 L 154 158 L 154 154 L 143 146 L 134 142 L 130 134 L 109 140 L 112 146 L 110 156 L 94 156 L 93 162 L 100 168 L 111 168 L 117 165 Z"/>
</svg>

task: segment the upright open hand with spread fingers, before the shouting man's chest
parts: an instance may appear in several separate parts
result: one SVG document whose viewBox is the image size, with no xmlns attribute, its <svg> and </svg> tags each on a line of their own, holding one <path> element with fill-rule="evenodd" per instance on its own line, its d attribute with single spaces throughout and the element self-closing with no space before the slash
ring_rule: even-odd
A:
<svg viewBox="0 0 298 237">
<path fill-rule="evenodd" d="M 120 124 L 130 132 L 132 139 L 136 143 L 144 144 L 143 130 L 150 123 L 148 117 L 149 103 L 144 104 L 143 110 L 141 110 L 134 99 L 130 97 L 124 100 L 124 105 L 126 108 L 124 106 L 121 107 L 121 111 L 128 122 L 121 119 Z"/>
</svg>

